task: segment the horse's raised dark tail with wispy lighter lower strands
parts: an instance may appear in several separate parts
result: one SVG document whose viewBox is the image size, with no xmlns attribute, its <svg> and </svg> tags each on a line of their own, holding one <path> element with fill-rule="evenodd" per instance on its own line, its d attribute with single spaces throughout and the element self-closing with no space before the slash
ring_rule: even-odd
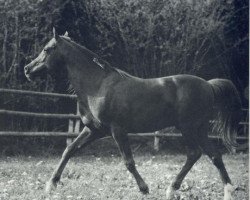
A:
<svg viewBox="0 0 250 200">
<path fill-rule="evenodd" d="M 219 133 L 229 150 L 241 149 L 236 142 L 238 125 L 241 119 L 241 99 L 234 84 L 226 79 L 208 81 L 214 93 L 215 121 L 212 131 Z"/>
</svg>

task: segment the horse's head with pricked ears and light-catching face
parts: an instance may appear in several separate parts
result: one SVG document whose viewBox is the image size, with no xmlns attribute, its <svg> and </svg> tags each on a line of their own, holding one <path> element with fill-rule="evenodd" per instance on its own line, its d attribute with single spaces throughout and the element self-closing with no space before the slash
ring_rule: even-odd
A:
<svg viewBox="0 0 250 200">
<path fill-rule="evenodd" d="M 68 33 L 66 32 L 64 36 L 68 36 Z M 38 57 L 24 67 L 24 73 L 28 80 L 33 80 L 39 75 L 38 72 L 44 69 L 52 70 L 63 62 L 57 48 L 59 40 L 60 36 L 53 28 L 53 38 L 45 45 Z"/>
</svg>

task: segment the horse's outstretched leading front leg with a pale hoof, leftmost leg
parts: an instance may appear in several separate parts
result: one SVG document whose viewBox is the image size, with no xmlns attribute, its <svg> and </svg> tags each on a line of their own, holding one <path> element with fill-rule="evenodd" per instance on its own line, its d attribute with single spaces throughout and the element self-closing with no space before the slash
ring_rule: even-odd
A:
<svg viewBox="0 0 250 200">
<path fill-rule="evenodd" d="M 51 178 L 46 184 L 45 191 L 46 193 L 50 193 L 53 189 L 56 188 L 58 181 L 61 178 L 62 172 L 69 161 L 70 157 L 81 147 L 85 147 L 94 140 L 100 138 L 100 134 L 96 134 L 95 132 L 91 131 L 88 127 L 84 127 L 82 132 L 79 136 L 72 142 L 70 145 L 66 147 L 63 152 L 62 158 L 54 170 Z"/>
</svg>

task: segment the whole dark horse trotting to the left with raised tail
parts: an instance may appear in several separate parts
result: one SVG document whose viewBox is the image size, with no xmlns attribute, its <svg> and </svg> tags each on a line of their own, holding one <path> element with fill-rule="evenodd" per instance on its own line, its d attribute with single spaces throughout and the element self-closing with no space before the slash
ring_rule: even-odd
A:
<svg viewBox="0 0 250 200">
<path fill-rule="evenodd" d="M 112 67 L 95 53 L 73 42 L 67 34 L 59 36 L 53 29 L 53 35 L 39 56 L 24 67 L 25 75 L 32 80 L 45 68 L 57 73 L 66 70 L 77 94 L 85 127 L 65 149 L 47 182 L 47 192 L 55 189 L 68 160 L 79 148 L 111 134 L 140 191 L 148 193 L 148 186 L 135 167 L 127 134 L 175 126 L 181 131 L 187 146 L 187 160 L 168 187 L 167 199 L 173 198 L 202 151 L 219 170 L 224 184 L 224 200 L 232 199 L 233 186 L 222 156 L 208 140 L 209 120 L 213 107 L 217 106 L 216 128 L 227 145 L 234 145 L 231 135 L 237 129 L 241 103 L 231 81 L 205 81 L 191 75 L 137 78 Z"/>
</svg>

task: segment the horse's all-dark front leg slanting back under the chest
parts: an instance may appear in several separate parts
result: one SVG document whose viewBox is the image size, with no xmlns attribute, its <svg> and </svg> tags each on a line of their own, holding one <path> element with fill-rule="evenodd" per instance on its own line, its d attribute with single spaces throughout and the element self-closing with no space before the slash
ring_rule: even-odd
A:
<svg viewBox="0 0 250 200">
<path fill-rule="evenodd" d="M 133 176 L 135 177 L 135 180 L 137 182 L 140 191 L 143 194 L 147 194 L 149 192 L 148 186 L 144 182 L 144 180 L 142 179 L 142 177 L 140 176 L 139 172 L 135 167 L 135 161 L 133 159 L 127 134 L 119 127 L 112 127 L 112 135 L 125 161 L 125 165 L 129 170 L 129 172 L 132 173 Z"/>
</svg>

